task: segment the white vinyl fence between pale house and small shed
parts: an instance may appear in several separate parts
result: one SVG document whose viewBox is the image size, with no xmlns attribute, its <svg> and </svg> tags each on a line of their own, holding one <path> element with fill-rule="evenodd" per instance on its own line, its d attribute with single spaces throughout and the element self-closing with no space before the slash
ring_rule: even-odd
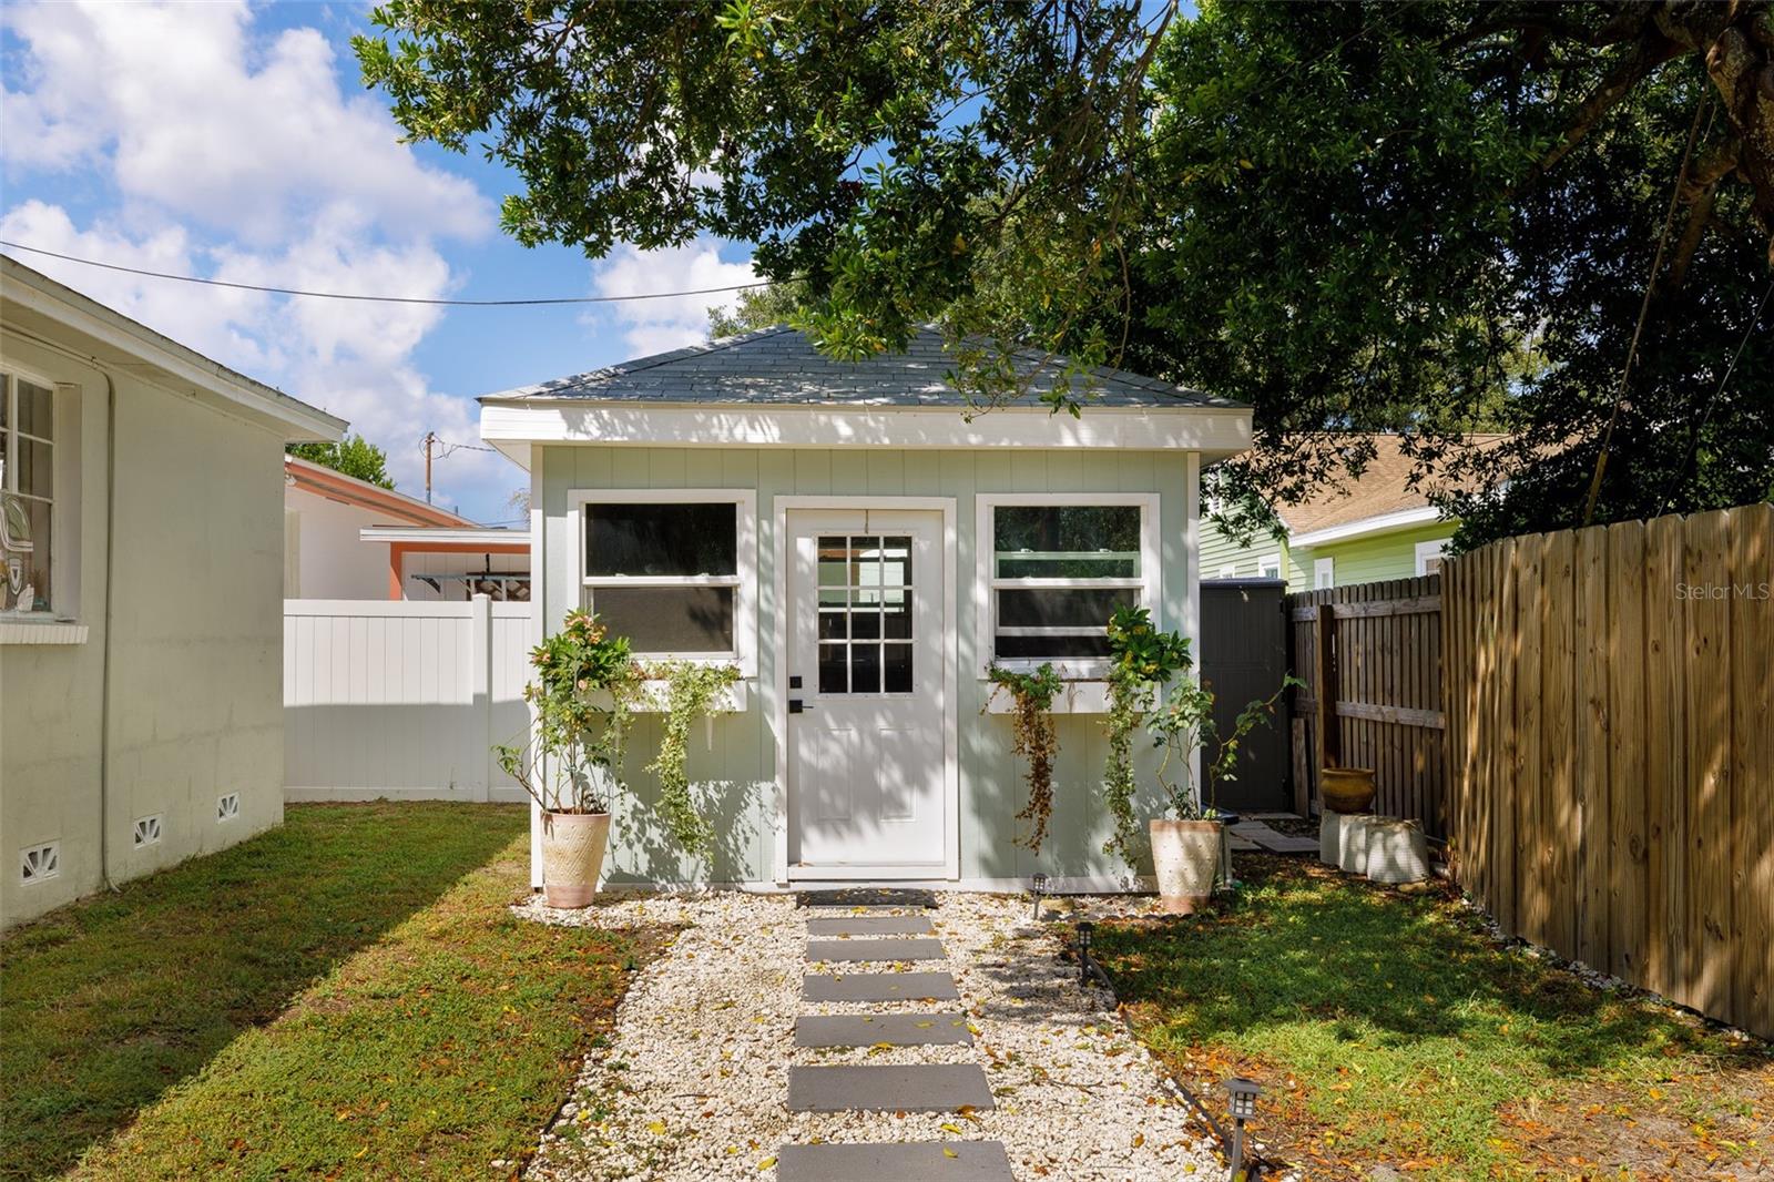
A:
<svg viewBox="0 0 1774 1182">
<path fill-rule="evenodd" d="M 530 605 L 284 600 L 286 800 L 523 800 Z"/>
</svg>

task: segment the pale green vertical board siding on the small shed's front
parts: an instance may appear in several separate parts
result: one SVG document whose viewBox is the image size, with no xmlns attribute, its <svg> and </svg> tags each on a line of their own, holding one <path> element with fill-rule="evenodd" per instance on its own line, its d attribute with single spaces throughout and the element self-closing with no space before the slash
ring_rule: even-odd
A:
<svg viewBox="0 0 1774 1182">
<path fill-rule="evenodd" d="M 660 715 L 635 722 L 626 777 L 635 802 L 623 802 L 612 820 L 607 877 L 621 882 L 772 882 L 775 866 L 775 737 L 777 660 L 775 497 L 953 497 L 956 502 L 956 616 L 960 722 L 960 877 L 1013 879 L 1036 870 L 1064 877 L 1123 877 L 1128 868 L 1102 852 L 1109 820 L 1096 802 L 1105 740 L 1102 719 L 1063 715 L 1054 774 L 1054 818 L 1041 854 L 1017 845 L 1015 815 L 1024 806 L 1020 760 L 1011 754 L 1004 715 L 983 715 L 988 685 L 981 678 L 986 650 L 977 635 L 974 540 L 976 493 L 1158 493 L 1162 587 L 1158 621 L 1192 630 L 1189 516 L 1192 509 L 1189 453 L 1157 451 L 830 451 L 756 447 L 600 447 L 536 445 L 532 449 L 532 524 L 541 525 L 538 582 L 539 618 L 553 630 L 580 603 L 580 582 L 569 568 L 568 495 L 594 488 L 750 488 L 757 493 L 757 682 L 749 708 L 713 722 L 713 749 L 704 728 L 690 742 L 688 772 L 711 806 L 717 832 L 713 864 L 683 857 L 663 836 L 653 811 L 656 784 L 644 770 L 658 749 Z M 539 518 L 539 522 L 538 522 Z M 1148 751 L 1141 744 L 1141 756 Z M 1142 776 L 1150 783 L 1148 774 Z M 1142 808 L 1155 813 L 1157 799 Z M 1150 864 L 1141 868 L 1150 873 Z"/>
</svg>

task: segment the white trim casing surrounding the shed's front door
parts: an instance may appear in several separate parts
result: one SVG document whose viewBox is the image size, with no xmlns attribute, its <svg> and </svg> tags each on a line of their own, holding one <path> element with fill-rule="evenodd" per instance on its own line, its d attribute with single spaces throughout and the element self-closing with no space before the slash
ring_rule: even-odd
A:
<svg viewBox="0 0 1774 1182">
<path fill-rule="evenodd" d="M 942 513 L 942 870 L 944 884 L 962 875 L 962 731 L 960 731 L 960 619 L 956 618 L 954 497 L 869 497 L 869 495 L 777 495 L 770 499 L 770 525 L 775 531 L 775 676 L 763 685 L 765 717 L 775 740 L 775 882 L 788 884 L 788 515 L 791 509 L 912 509 Z M 912 866 L 905 870 L 928 870 Z M 859 868 L 860 870 L 860 868 Z M 892 866 L 869 866 L 866 877 L 899 879 Z M 864 877 L 864 875 L 859 875 Z"/>
</svg>

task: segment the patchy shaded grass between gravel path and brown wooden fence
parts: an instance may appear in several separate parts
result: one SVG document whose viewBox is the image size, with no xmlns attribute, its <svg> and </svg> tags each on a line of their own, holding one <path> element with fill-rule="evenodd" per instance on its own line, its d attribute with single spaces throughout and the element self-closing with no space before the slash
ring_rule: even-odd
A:
<svg viewBox="0 0 1774 1182">
<path fill-rule="evenodd" d="M 1774 1170 L 1774 1058 L 1490 941 L 1405 894 L 1244 855 L 1221 914 L 1098 928 L 1128 1019 L 1219 1111 L 1265 1083 L 1258 1138 L 1313 1178 L 1699 1178 Z"/>
</svg>

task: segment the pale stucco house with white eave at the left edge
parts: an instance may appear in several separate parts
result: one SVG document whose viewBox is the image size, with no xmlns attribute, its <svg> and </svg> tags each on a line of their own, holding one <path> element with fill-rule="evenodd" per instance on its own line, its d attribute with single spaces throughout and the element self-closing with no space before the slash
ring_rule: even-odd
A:
<svg viewBox="0 0 1774 1182">
<path fill-rule="evenodd" d="M 0 374 L 12 925 L 282 820 L 279 456 L 346 424 L 4 257 Z"/>
</svg>

